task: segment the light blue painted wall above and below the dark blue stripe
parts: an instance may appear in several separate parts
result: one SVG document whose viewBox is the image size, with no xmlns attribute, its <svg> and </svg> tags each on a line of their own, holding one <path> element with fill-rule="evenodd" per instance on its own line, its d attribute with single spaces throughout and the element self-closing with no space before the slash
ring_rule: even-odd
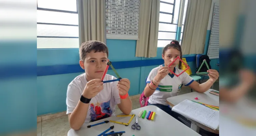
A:
<svg viewBox="0 0 256 136">
<path fill-rule="evenodd" d="M 157 57 L 144 58 L 135 57 L 136 40 L 117 40 L 107 39 L 109 48 L 109 60 L 115 61 L 135 61 L 161 58 L 162 48 L 158 48 Z M 47 55 L 46 55 L 47 54 Z M 193 55 L 185 55 L 193 56 Z M 214 66 L 217 59 L 212 60 L 211 65 Z M 39 49 L 37 50 L 37 65 L 71 65 L 78 64 L 78 49 Z M 191 70 L 196 69 L 195 62 L 188 62 Z M 122 78 L 131 81 L 129 95 L 137 95 L 142 93 L 145 87 L 145 78 L 148 76 L 152 68 L 156 66 L 136 67 L 117 69 Z M 57 113 L 66 110 L 66 92 L 67 85 L 81 73 L 47 75 L 37 77 L 37 115 Z M 108 70 L 108 74 L 114 75 L 112 70 Z"/>
</svg>

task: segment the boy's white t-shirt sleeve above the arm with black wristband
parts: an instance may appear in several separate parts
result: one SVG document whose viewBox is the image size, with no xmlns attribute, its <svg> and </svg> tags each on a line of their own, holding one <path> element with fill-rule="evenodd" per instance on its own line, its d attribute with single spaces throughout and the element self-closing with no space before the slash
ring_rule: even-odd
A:
<svg viewBox="0 0 256 136">
<path fill-rule="evenodd" d="M 74 111 L 75 107 L 78 104 L 78 101 L 81 98 L 80 91 L 78 87 L 74 84 L 69 84 L 68 89 L 67 89 L 67 99 L 66 99 L 66 104 L 67 104 L 67 114 L 70 114 Z"/>
</svg>

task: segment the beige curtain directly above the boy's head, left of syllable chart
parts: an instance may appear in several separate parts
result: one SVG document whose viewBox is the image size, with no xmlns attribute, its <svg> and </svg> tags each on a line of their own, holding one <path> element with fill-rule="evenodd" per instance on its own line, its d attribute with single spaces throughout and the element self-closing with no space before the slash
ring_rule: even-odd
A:
<svg viewBox="0 0 256 136">
<path fill-rule="evenodd" d="M 78 0 L 79 46 L 89 40 L 106 44 L 105 0 Z"/>
</svg>

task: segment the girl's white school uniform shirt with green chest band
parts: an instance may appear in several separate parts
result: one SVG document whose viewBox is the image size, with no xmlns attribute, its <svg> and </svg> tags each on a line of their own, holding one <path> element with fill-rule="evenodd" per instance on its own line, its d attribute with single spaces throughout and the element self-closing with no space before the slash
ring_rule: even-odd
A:
<svg viewBox="0 0 256 136">
<path fill-rule="evenodd" d="M 153 68 L 147 78 L 147 83 L 150 83 L 154 77 L 156 77 L 158 70 L 163 65 L 160 65 L 159 67 Z M 176 74 L 181 73 L 183 70 L 174 68 L 174 71 Z M 162 104 L 162 105 L 168 105 L 166 103 L 166 99 L 169 97 L 177 96 L 181 89 L 181 84 L 188 86 L 190 85 L 194 80 L 186 73 L 182 73 L 179 75 L 179 77 L 176 77 L 174 74 L 168 74 L 166 75 L 161 82 L 158 85 L 158 88 L 154 91 L 154 93 L 149 97 L 148 102 L 150 104 Z M 153 81 L 154 82 L 154 81 Z"/>
</svg>

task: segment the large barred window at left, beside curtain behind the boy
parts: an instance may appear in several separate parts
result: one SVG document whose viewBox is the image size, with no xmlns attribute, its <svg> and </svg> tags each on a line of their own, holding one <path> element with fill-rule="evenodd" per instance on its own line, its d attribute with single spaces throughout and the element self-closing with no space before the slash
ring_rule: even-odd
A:
<svg viewBox="0 0 256 136">
<path fill-rule="evenodd" d="M 37 49 L 79 48 L 78 35 L 77 0 L 37 0 Z"/>
</svg>

